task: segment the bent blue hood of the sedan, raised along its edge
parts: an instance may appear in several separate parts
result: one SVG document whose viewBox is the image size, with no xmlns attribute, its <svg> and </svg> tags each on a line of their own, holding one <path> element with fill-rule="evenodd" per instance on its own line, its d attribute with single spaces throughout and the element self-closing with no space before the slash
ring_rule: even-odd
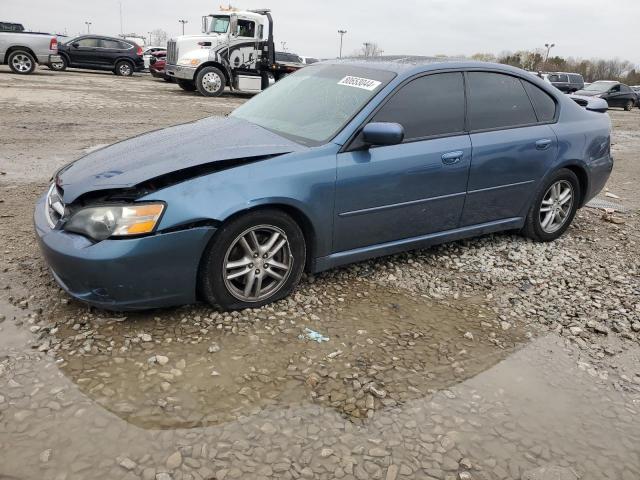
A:
<svg viewBox="0 0 640 480">
<path fill-rule="evenodd" d="M 70 203 L 87 192 L 129 188 L 192 167 L 306 148 L 239 118 L 209 117 L 96 150 L 61 169 L 56 182 Z"/>
</svg>

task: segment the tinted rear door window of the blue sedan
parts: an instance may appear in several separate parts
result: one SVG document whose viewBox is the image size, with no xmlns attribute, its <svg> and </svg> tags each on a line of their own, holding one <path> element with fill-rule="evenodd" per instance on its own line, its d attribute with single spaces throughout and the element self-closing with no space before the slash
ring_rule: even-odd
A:
<svg viewBox="0 0 640 480">
<path fill-rule="evenodd" d="M 520 79 L 510 75 L 469 72 L 469 124 L 472 130 L 536 123 L 531 101 Z"/>
</svg>

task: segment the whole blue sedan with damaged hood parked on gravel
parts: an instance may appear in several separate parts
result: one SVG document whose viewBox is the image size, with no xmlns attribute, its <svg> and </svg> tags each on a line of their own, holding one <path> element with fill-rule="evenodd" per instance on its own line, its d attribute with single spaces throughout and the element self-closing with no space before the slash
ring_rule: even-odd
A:
<svg viewBox="0 0 640 480">
<path fill-rule="evenodd" d="M 608 115 L 581 105 L 503 65 L 315 64 L 62 168 L 37 237 L 62 288 L 113 310 L 259 307 L 305 270 L 501 230 L 551 241 L 613 166 Z"/>
</svg>

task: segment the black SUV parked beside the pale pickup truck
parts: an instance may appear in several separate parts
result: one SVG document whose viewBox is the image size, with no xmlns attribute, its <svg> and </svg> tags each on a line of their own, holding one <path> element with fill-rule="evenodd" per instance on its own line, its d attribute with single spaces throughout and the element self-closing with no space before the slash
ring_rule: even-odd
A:
<svg viewBox="0 0 640 480">
<path fill-rule="evenodd" d="M 60 44 L 58 53 L 61 61 L 51 65 L 53 70 L 110 70 L 125 77 L 144 70 L 142 48 L 123 38 L 83 35 Z"/>
</svg>

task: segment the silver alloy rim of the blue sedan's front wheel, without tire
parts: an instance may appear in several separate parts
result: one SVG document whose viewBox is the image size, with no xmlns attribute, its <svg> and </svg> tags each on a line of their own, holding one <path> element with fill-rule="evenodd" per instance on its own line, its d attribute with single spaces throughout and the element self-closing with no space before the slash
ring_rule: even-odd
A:
<svg viewBox="0 0 640 480">
<path fill-rule="evenodd" d="M 284 231 L 273 225 L 251 227 L 231 242 L 225 254 L 224 284 L 238 300 L 258 302 L 280 290 L 293 260 Z"/>
</svg>

